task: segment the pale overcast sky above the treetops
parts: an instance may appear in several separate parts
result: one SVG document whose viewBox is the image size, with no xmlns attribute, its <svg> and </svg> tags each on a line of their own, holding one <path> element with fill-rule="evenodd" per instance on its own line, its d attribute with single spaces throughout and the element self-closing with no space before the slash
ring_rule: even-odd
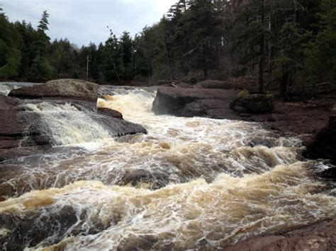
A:
<svg viewBox="0 0 336 251">
<path fill-rule="evenodd" d="M 50 14 L 52 40 L 67 37 L 82 46 L 105 42 L 109 31 L 131 35 L 145 25 L 157 23 L 177 0 L 0 0 L 10 21 L 31 22 L 37 26 L 43 11 Z"/>
</svg>

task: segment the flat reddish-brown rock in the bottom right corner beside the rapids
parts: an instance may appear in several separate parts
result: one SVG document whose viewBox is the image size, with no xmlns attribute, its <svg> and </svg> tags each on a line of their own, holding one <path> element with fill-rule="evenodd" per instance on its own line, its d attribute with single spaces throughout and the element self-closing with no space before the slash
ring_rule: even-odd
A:
<svg viewBox="0 0 336 251">
<path fill-rule="evenodd" d="M 238 250 L 335 250 L 336 220 L 316 223 L 287 233 L 260 235 L 242 243 L 225 247 L 227 251 Z"/>
</svg>

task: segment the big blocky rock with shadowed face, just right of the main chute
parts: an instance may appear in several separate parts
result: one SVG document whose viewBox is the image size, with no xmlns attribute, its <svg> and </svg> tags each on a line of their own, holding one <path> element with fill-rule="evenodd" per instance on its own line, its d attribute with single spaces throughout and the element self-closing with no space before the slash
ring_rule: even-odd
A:
<svg viewBox="0 0 336 251">
<path fill-rule="evenodd" d="M 239 116 L 230 110 L 237 94 L 234 90 L 162 87 L 152 110 L 156 115 L 237 119 Z"/>
</svg>

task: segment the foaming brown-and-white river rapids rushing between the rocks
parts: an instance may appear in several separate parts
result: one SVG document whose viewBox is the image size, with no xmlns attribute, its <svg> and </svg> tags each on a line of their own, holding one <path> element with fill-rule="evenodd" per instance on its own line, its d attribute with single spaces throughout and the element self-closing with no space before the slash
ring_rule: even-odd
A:
<svg viewBox="0 0 336 251">
<path fill-rule="evenodd" d="M 155 116 L 155 93 L 99 107 L 142 124 L 115 138 L 70 104 L 29 104 L 55 146 L 0 163 L 3 250 L 215 250 L 336 214 L 335 190 L 300 137 L 261 124 Z M 113 94 L 113 95 L 112 95 Z"/>
</svg>

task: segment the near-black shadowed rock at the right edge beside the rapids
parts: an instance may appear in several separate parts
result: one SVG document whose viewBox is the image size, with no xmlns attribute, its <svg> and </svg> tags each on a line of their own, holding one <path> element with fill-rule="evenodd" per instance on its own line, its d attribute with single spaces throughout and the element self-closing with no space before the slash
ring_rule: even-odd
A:
<svg viewBox="0 0 336 251">
<path fill-rule="evenodd" d="M 325 158 L 336 164 L 336 106 L 333 107 L 327 127 L 308 142 L 305 153 L 308 158 Z"/>
</svg>

